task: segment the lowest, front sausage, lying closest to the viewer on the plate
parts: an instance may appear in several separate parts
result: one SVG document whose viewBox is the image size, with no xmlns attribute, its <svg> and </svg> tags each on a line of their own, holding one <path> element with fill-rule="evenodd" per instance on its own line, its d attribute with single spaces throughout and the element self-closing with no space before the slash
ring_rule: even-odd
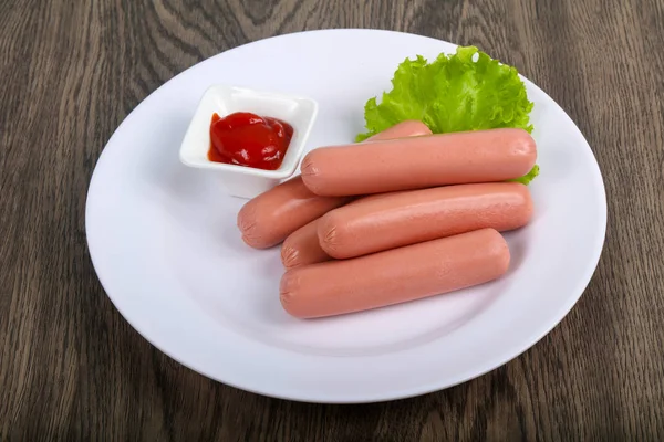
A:
<svg viewBox="0 0 664 442">
<path fill-rule="evenodd" d="M 500 233 L 476 230 L 291 269 L 281 278 L 280 301 L 299 318 L 360 312 L 489 282 L 507 271 L 509 260 Z"/>
</svg>

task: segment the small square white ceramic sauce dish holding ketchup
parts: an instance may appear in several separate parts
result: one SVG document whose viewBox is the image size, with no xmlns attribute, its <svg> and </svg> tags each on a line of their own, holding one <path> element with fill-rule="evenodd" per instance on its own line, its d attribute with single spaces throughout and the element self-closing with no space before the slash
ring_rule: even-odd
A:
<svg viewBox="0 0 664 442">
<path fill-rule="evenodd" d="M 266 170 L 209 159 L 208 152 L 214 149 L 210 139 L 212 115 L 225 118 L 234 113 L 251 113 L 264 118 L 274 118 L 292 127 L 292 137 L 277 169 Z M 215 85 L 205 92 L 196 108 L 180 146 L 179 158 L 185 166 L 217 173 L 227 194 L 253 198 L 295 172 L 317 115 L 318 103 L 311 98 Z"/>
</svg>

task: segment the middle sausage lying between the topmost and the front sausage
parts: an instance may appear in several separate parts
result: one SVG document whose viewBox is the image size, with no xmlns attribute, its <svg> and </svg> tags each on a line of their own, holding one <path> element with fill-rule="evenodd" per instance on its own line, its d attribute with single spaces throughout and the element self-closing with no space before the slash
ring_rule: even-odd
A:
<svg viewBox="0 0 664 442">
<path fill-rule="evenodd" d="M 530 192 L 518 182 L 458 185 L 372 197 L 320 219 L 318 238 L 326 254 L 347 259 L 484 228 L 502 232 L 526 225 L 532 215 Z"/>
</svg>

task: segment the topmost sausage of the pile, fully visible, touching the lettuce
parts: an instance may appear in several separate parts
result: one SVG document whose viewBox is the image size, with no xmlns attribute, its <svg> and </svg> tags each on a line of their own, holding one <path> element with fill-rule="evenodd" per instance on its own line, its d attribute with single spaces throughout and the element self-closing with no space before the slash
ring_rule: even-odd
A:
<svg viewBox="0 0 664 442">
<path fill-rule="evenodd" d="M 528 173 L 536 159 L 526 130 L 502 128 L 323 147 L 301 170 L 313 193 L 331 197 L 505 181 Z"/>
</svg>

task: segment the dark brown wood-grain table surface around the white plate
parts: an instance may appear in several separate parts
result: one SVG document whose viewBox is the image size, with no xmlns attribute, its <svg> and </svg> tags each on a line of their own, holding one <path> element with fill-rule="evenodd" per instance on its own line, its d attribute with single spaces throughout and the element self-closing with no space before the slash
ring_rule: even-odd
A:
<svg viewBox="0 0 664 442">
<path fill-rule="evenodd" d="M 1 441 L 664 440 L 661 0 L 179 3 L 0 3 Z M 85 243 L 95 161 L 123 118 L 193 64 L 352 27 L 476 44 L 547 91 L 604 175 L 600 266 L 544 339 L 445 391 L 333 407 L 214 382 L 153 348 L 104 294 Z"/>
</svg>

